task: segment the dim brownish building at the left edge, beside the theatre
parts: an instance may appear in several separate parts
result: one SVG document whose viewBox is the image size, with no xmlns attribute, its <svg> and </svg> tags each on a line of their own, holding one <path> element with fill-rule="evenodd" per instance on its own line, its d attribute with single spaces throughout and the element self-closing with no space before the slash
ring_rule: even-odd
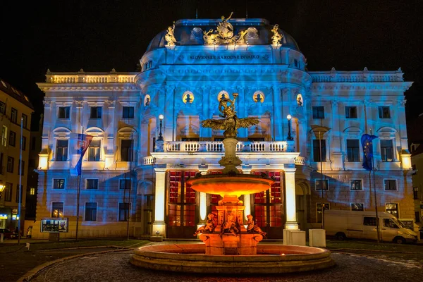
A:
<svg viewBox="0 0 423 282">
<path fill-rule="evenodd" d="M 30 100 L 16 87 L 0 79 L 0 228 L 16 230 L 18 219 L 24 226 L 27 188 L 28 159 L 30 147 L 31 114 Z M 23 134 L 20 134 L 22 118 Z M 22 140 L 22 173 L 20 173 L 20 140 Z M 21 177 L 21 189 L 19 178 Z M 19 214 L 19 190 L 20 216 Z M 22 230 L 22 228 L 20 228 Z"/>
</svg>

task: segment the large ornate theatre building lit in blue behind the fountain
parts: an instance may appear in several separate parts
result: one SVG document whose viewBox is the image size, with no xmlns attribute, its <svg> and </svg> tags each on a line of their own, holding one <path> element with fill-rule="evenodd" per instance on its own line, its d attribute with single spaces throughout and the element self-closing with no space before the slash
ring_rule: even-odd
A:
<svg viewBox="0 0 423 282">
<path fill-rule="evenodd" d="M 325 209 L 413 218 L 404 92 L 398 71 L 307 71 L 293 37 L 264 19 L 178 20 L 154 37 L 135 73 L 54 73 L 45 93 L 37 223 L 66 217 L 75 237 L 78 178 L 69 173 L 71 133 L 93 140 L 82 161 L 80 237 L 193 238 L 220 197 L 195 192 L 195 173 L 221 173 L 219 99 L 238 93 L 243 173 L 267 173 L 270 190 L 244 195 L 268 238 L 321 227 Z M 290 119 L 288 120 L 288 117 Z M 360 138 L 372 133 L 374 183 Z M 373 186 L 374 184 L 374 186 Z M 129 215 L 129 216 L 128 216 Z M 128 219 L 130 221 L 128 222 Z M 35 223 L 33 237 L 46 233 Z"/>
</svg>

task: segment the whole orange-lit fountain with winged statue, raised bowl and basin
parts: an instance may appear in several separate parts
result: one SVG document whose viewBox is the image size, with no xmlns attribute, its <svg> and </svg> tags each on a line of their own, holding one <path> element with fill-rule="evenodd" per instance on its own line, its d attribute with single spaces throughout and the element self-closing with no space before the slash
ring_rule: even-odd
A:
<svg viewBox="0 0 423 282">
<path fill-rule="evenodd" d="M 139 247 L 131 257 L 132 264 L 148 269 L 219 274 L 276 274 L 333 266 L 328 250 L 295 245 L 257 245 L 266 233 L 255 225 L 250 214 L 245 228 L 245 207 L 239 197 L 268 190 L 274 180 L 266 174 L 243 174 L 236 168 L 242 164 L 235 154 L 237 129 L 259 123 L 258 118 L 236 116 L 237 97 L 238 94 L 234 93 L 233 100 L 220 100 L 221 119 L 202 121 L 203 127 L 225 130 L 225 155 L 219 161 L 224 167 L 223 173 L 205 176 L 197 173 L 195 178 L 188 179 L 193 190 L 221 195 L 216 207 L 216 226 L 214 214 L 209 214 L 206 224 L 195 232 L 195 235 L 200 234 L 204 244 Z"/>
</svg>

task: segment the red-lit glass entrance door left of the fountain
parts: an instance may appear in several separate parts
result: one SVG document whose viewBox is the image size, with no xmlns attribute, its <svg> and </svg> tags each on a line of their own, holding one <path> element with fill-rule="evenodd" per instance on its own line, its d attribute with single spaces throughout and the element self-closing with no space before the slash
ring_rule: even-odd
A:
<svg viewBox="0 0 423 282">
<path fill-rule="evenodd" d="M 168 238 L 194 238 L 197 230 L 195 209 L 196 192 L 186 183 L 197 171 L 170 171 L 168 173 Z"/>
</svg>

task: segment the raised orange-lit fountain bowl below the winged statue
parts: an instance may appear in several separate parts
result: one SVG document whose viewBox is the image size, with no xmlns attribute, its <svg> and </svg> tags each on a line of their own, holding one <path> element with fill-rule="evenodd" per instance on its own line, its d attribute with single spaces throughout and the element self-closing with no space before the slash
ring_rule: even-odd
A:
<svg viewBox="0 0 423 282">
<path fill-rule="evenodd" d="M 268 190 L 274 180 L 268 176 L 257 176 L 254 174 L 208 174 L 190 178 L 188 183 L 191 184 L 192 189 L 198 192 L 221 195 L 222 197 L 225 195 L 240 197 L 241 195 L 250 195 Z"/>
</svg>

